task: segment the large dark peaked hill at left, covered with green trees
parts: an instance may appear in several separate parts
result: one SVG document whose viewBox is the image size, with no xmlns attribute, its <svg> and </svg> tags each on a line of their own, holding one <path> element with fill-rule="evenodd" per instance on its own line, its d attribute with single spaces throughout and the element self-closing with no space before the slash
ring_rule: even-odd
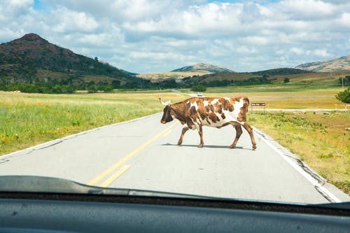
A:
<svg viewBox="0 0 350 233">
<path fill-rule="evenodd" d="M 6 80 L 4 80 L 6 79 Z M 60 85 L 133 86 L 147 82 L 105 62 L 78 55 L 49 43 L 37 34 L 0 44 L 0 84 L 57 83 Z"/>
</svg>

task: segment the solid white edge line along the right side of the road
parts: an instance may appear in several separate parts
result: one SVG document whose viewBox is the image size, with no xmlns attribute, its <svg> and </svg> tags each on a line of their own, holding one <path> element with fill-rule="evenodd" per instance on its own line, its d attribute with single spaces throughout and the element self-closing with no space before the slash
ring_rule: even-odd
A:
<svg viewBox="0 0 350 233">
<path fill-rule="evenodd" d="M 272 143 L 270 143 L 269 141 L 267 141 L 266 139 L 264 139 L 259 132 L 257 132 L 255 129 L 254 131 L 256 132 L 256 134 L 258 134 L 258 136 L 260 136 L 260 139 L 262 139 L 262 141 L 264 141 L 269 147 L 272 148 L 272 150 L 274 150 L 278 155 L 280 155 L 281 157 L 283 157 L 284 160 L 286 160 L 286 162 L 288 162 L 288 164 L 290 164 L 290 166 L 292 166 L 295 170 L 297 170 L 302 176 L 304 176 L 304 178 L 307 179 L 307 181 L 309 181 L 312 185 L 314 185 L 315 188 L 318 188 L 318 190 L 321 190 L 322 192 L 325 193 L 325 195 L 328 195 L 328 197 L 330 199 L 333 200 L 333 202 L 342 202 L 340 201 L 340 199 L 338 199 L 337 197 L 335 197 L 335 195 L 332 194 L 332 192 L 330 192 L 327 188 L 325 188 L 323 185 L 320 185 L 320 183 L 318 183 L 318 181 L 313 178 L 312 176 L 310 176 L 310 174 L 308 174 L 306 171 L 304 171 L 301 167 L 299 167 L 297 164 L 295 164 L 295 162 L 293 162 L 292 160 L 290 160 L 290 158 L 286 155 L 284 155 L 284 153 L 281 152 L 281 150 L 279 150 L 278 148 L 276 148 L 274 145 L 272 145 Z"/>
</svg>

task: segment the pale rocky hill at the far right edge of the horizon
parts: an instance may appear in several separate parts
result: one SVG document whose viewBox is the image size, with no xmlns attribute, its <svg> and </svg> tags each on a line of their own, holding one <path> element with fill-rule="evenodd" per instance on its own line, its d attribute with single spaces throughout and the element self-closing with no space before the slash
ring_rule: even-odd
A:
<svg viewBox="0 0 350 233">
<path fill-rule="evenodd" d="M 350 55 L 323 62 L 300 64 L 295 66 L 295 69 L 315 72 L 350 71 Z"/>
</svg>

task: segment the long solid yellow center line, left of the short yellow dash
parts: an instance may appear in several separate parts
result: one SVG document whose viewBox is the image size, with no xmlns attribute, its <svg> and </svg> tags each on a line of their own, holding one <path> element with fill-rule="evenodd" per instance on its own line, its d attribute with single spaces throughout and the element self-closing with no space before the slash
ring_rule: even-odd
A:
<svg viewBox="0 0 350 233">
<path fill-rule="evenodd" d="M 94 185 L 97 182 L 101 181 L 102 178 L 104 178 L 105 176 L 107 176 L 108 174 L 110 174 L 114 169 L 116 169 L 117 167 L 119 167 L 121 164 L 127 162 L 127 160 L 130 160 L 130 158 L 132 158 L 134 155 L 136 155 L 137 153 L 139 153 L 140 150 L 144 149 L 146 146 L 148 146 L 151 142 L 155 141 L 155 139 L 158 139 L 158 137 L 160 137 L 162 134 L 164 134 L 165 132 L 167 132 L 167 130 L 171 129 L 172 127 L 174 127 L 174 125 L 176 125 L 177 122 L 174 122 L 172 125 L 170 125 L 169 127 L 167 127 L 167 129 L 164 129 L 162 132 L 160 132 L 159 134 L 153 136 L 152 139 L 150 139 L 149 141 L 147 141 L 146 143 L 144 143 L 144 145 L 140 146 L 139 148 L 137 148 L 136 150 L 134 150 L 132 153 L 130 153 L 129 155 L 123 157 L 123 159 L 119 160 L 116 164 L 114 164 L 112 167 L 110 167 L 109 169 L 107 169 L 106 171 L 104 171 L 102 174 L 99 174 L 99 176 L 95 177 L 92 181 L 90 181 L 89 183 L 87 183 L 87 185 Z"/>
</svg>

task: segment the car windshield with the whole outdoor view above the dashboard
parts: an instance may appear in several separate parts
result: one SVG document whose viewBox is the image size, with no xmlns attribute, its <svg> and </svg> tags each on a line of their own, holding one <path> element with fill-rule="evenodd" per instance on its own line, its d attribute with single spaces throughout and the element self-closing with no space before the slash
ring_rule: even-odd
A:
<svg viewBox="0 0 350 233">
<path fill-rule="evenodd" d="M 0 192 L 350 202 L 349 1 L 0 15 Z"/>
</svg>

